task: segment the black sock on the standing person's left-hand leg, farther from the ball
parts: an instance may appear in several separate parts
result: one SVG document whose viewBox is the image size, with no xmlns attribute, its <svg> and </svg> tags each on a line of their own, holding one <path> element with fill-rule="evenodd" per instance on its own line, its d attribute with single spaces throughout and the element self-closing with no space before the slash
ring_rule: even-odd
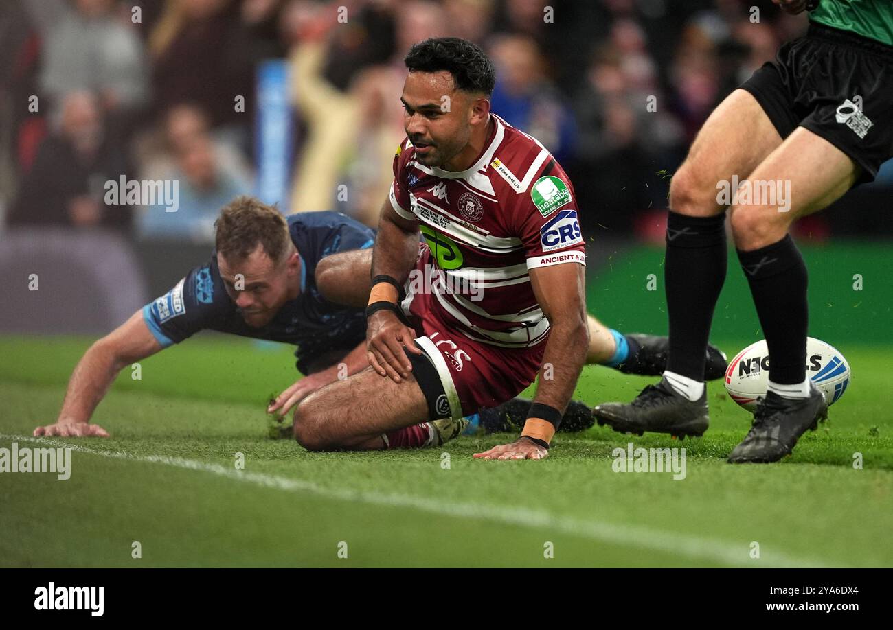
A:
<svg viewBox="0 0 893 630">
<path fill-rule="evenodd" d="M 703 381 L 710 323 L 725 282 L 725 212 L 715 217 L 689 217 L 671 211 L 666 240 L 667 369 Z"/>
</svg>

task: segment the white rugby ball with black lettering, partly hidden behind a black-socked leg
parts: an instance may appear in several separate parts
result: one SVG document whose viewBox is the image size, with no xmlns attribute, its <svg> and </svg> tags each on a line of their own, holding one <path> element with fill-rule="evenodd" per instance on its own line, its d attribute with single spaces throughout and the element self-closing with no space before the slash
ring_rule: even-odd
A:
<svg viewBox="0 0 893 630">
<path fill-rule="evenodd" d="M 806 377 L 825 394 L 828 404 L 837 402 L 849 385 L 849 364 L 832 345 L 806 337 Z M 756 399 L 769 387 L 769 352 L 765 339 L 750 344 L 735 355 L 725 375 L 731 399 L 748 411 L 756 410 Z"/>
</svg>

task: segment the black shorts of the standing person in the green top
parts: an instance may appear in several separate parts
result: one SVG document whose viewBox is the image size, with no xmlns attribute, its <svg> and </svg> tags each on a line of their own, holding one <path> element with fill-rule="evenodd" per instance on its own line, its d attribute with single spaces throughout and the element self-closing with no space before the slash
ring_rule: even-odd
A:
<svg viewBox="0 0 893 630">
<path fill-rule="evenodd" d="M 781 46 L 775 61 L 741 87 L 782 138 L 797 126 L 807 128 L 862 166 L 858 183 L 872 181 L 893 157 L 891 46 L 810 24 L 805 37 Z"/>
</svg>

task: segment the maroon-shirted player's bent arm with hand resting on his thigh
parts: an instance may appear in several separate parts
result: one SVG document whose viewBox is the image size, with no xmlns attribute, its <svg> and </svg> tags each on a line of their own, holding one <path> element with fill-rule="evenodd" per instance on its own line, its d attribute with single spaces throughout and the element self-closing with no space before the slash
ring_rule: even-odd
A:
<svg viewBox="0 0 893 630">
<path fill-rule="evenodd" d="M 418 223 L 402 219 L 391 207 L 390 200 L 385 200 L 381 208 L 379 234 L 372 250 L 371 278 L 384 275 L 393 278 L 400 285 L 404 284 L 413 269 L 418 251 Z M 369 364 L 382 377 L 391 377 L 396 383 L 409 377 L 413 370 L 403 348 L 421 354 L 421 350 L 413 344 L 413 330 L 405 326 L 396 315 L 398 302 L 396 286 L 388 282 L 375 284 L 369 294 L 369 304 L 391 303 L 394 306 L 373 312 L 366 323 Z"/>
</svg>

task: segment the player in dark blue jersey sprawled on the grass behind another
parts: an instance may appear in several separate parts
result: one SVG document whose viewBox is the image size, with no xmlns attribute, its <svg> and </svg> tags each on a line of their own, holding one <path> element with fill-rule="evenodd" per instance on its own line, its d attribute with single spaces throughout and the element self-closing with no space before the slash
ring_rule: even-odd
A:
<svg viewBox="0 0 893 630">
<path fill-rule="evenodd" d="M 296 368 L 306 376 L 268 409 L 287 414 L 306 395 L 369 365 L 363 307 L 374 239 L 371 228 L 339 212 L 283 217 L 252 197 L 237 197 L 221 210 L 210 259 L 93 344 L 71 375 L 57 422 L 34 435 L 107 436 L 90 419 L 118 372 L 204 329 L 297 346 Z M 666 337 L 622 335 L 591 316 L 589 326 L 589 363 L 645 375 L 663 369 Z M 707 377 L 722 376 L 722 354 L 713 347 L 709 353 Z M 471 421 L 490 431 L 511 430 L 529 407 L 530 401 L 514 399 Z M 579 402 L 566 416 L 565 430 L 593 423 Z M 454 436 L 468 422 L 430 423 L 431 443 Z"/>
</svg>

